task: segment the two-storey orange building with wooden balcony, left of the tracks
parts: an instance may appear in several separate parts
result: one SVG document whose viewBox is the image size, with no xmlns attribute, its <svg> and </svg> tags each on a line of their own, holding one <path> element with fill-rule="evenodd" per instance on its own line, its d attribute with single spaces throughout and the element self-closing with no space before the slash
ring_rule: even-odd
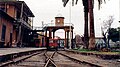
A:
<svg viewBox="0 0 120 67">
<path fill-rule="evenodd" d="M 8 42 L 12 46 L 18 42 L 22 46 L 28 45 L 34 15 L 27 4 L 24 1 L 0 1 L 0 11 L 0 45 Z"/>
</svg>

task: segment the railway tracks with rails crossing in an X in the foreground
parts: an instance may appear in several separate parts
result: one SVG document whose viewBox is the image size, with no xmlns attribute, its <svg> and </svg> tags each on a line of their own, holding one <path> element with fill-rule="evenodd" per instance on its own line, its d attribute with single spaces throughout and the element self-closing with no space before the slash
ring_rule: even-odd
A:
<svg viewBox="0 0 120 67">
<path fill-rule="evenodd" d="M 99 67 L 60 54 L 59 51 L 43 51 L 6 67 Z"/>
</svg>

